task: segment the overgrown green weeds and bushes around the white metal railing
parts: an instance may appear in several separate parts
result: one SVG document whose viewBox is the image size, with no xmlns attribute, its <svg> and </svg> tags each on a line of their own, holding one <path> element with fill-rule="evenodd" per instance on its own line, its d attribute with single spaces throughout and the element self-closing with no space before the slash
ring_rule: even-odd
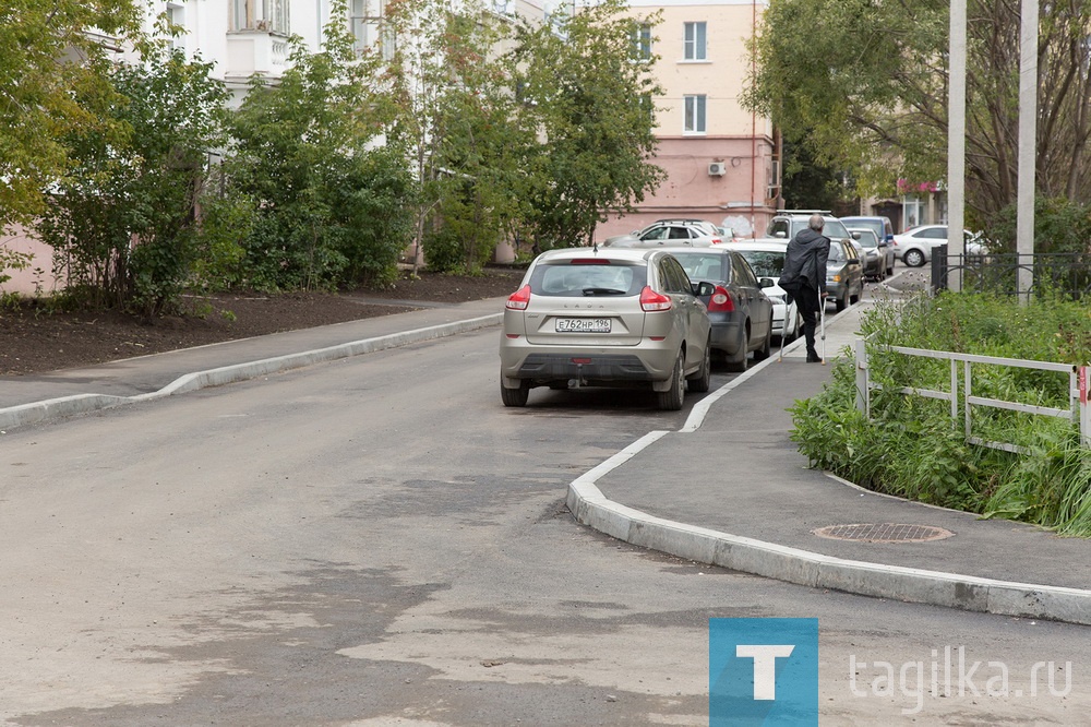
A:
<svg viewBox="0 0 1091 727">
<path fill-rule="evenodd" d="M 973 433 L 1027 448 L 1014 454 L 970 444 L 949 404 L 904 396 L 895 386 L 949 391 L 950 365 L 885 350 L 899 345 L 985 356 L 1087 364 L 1091 311 L 1063 298 L 1019 306 L 1011 298 L 943 294 L 864 314 L 873 382 L 872 419 L 855 408 L 855 371 L 831 370 L 823 391 L 791 412 L 792 440 L 812 466 L 876 491 L 1091 537 L 1091 449 L 1078 425 L 1017 412 L 974 408 Z M 1066 374 L 973 365 L 973 393 L 1067 408 Z"/>
</svg>

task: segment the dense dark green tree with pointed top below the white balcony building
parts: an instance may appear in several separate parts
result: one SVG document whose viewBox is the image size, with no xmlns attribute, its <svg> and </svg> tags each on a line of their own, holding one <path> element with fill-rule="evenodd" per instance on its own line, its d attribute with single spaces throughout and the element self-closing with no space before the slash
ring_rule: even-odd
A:
<svg viewBox="0 0 1091 727">
<path fill-rule="evenodd" d="M 344 3 L 332 16 L 345 17 Z M 380 145 L 376 59 L 358 57 L 341 22 L 323 48 L 293 45 L 276 85 L 254 78 L 231 122 L 231 193 L 253 200 L 245 284 L 313 288 L 396 273 L 411 181 Z"/>
</svg>

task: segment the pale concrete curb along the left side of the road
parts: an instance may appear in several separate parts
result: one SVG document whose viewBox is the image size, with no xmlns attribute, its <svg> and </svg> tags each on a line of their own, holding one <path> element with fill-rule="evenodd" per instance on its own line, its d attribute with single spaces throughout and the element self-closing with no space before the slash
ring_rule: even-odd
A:
<svg viewBox="0 0 1091 727">
<path fill-rule="evenodd" d="M 361 341 L 352 341 L 300 354 L 288 354 L 285 356 L 276 356 L 247 364 L 224 366 L 217 369 L 209 369 L 207 371 L 187 373 L 185 376 L 175 379 L 158 391 L 148 392 L 146 394 L 137 394 L 135 396 L 75 394 L 73 396 L 51 398 L 45 402 L 11 406 L 5 409 L 0 409 L 0 429 L 15 429 L 16 427 L 24 427 L 26 425 L 40 424 L 56 417 L 86 414 L 88 412 L 105 409 L 120 404 L 146 402 L 149 400 L 161 398 L 164 396 L 171 396 L 173 394 L 196 391 L 208 386 L 221 386 L 237 381 L 245 381 L 247 379 L 254 379 L 256 377 L 276 373 L 279 371 L 287 371 L 289 369 L 298 369 L 304 366 L 312 366 L 314 364 L 333 361 L 339 358 L 348 358 L 350 356 L 372 354 L 388 348 L 397 348 L 399 346 L 423 343 L 425 341 L 453 336 L 459 333 L 467 333 L 469 331 L 476 331 L 491 325 L 499 325 L 502 320 L 503 313 L 480 315 L 465 321 L 455 321 L 453 323 L 443 323 L 423 329 L 413 329 L 412 331 L 392 333 L 389 335 L 377 336 L 374 338 L 363 338 Z"/>
</svg>

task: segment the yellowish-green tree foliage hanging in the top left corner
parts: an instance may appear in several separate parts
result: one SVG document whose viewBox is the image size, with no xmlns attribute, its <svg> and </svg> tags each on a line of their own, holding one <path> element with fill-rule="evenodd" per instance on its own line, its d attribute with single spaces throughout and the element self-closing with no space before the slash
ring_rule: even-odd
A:
<svg viewBox="0 0 1091 727">
<path fill-rule="evenodd" d="M 69 167 L 64 140 L 103 120 L 81 104 L 106 92 L 103 35 L 139 39 L 137 0 L 5 0 L 0 7 L 0 229 L 41 211 Z"/>
</svg>

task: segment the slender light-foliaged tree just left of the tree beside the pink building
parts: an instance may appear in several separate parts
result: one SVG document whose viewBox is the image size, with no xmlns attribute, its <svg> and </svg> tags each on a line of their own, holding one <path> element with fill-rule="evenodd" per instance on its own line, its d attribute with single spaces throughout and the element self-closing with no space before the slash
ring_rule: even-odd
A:
<svg viewBox="0 0 1091 727">
<path fill-rule="evenodd" d="M 513 215 L 511 158 L 518 130 L 495 48 L 506 26 L 478 1 L 396 0 L 386 37 L 396 39 L 385 76 L 389 141 L 419 181 L 415 255 L 442 267 L 478 266 Z"/>
</svg>

